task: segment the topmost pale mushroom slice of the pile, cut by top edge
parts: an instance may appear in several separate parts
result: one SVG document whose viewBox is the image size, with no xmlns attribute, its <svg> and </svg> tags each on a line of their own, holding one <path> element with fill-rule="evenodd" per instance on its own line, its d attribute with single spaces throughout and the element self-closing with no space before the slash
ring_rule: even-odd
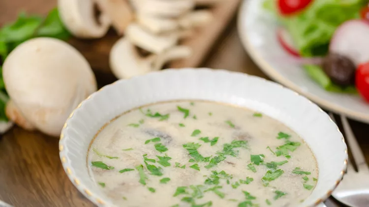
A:
<svg viewBox="0 0 369 207">
<path fill-rule="evenodd" d="M 179 17 L 195 7 L 194 0 L 131 0 L 137 13 Z"/>
</svg>

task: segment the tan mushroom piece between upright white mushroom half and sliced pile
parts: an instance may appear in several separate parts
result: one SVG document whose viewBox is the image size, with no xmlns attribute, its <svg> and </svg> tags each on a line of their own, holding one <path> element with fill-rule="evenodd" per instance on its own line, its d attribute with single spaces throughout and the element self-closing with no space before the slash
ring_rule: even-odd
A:
<svg viewBox="0 0 369 207">
<path fill-rule="evenodd" d="M 133 20 L 133 11 L 129 3 L 125 0 L 96 0 L 101 11 L 109 16 L 112 25 L 118 34 L 123 34 Z"/>
</svg>

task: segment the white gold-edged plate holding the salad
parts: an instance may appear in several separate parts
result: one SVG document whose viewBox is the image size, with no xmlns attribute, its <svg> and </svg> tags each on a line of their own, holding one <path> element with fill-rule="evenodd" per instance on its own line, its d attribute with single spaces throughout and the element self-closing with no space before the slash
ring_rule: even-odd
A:
<svg viewBox="0 0 369 207">
<path fill-rule="evenodd" d="M 369 123 L 369 103 L 359 96 L 325 91 L 277 41 L 276 18 L 262 8 L 264 0 L 244 0 L 238 18 L 240 38 L 255 63 L 270 78 L 323 108 Z"/>
</svg>

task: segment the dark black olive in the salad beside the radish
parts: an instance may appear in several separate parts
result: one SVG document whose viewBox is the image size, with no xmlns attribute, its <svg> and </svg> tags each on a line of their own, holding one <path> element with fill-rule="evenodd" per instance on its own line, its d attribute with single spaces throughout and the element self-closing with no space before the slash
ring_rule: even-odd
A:
<svg viewBox="0 0 369 207">
<path fill-rule="evenodd" d="M 330 53 L 323 59 L 322 67 L 332 82 L 340 86 L 354 84 L 356 66 L 350 58 Z"/>
</svg>

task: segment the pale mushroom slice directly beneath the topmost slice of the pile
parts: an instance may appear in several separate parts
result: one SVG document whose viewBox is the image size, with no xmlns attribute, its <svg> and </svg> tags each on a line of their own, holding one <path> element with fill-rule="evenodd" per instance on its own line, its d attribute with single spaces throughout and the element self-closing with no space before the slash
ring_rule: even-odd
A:
<svg viewBox="0 0 369 207">
<path fill-rule="evenodd" d="M 138 14 L 137 23 L 149 29 L 154 34 L 178 29 L 178 21 L 171 18 L 157 17 L 147 14 Z"/>
</svg>

